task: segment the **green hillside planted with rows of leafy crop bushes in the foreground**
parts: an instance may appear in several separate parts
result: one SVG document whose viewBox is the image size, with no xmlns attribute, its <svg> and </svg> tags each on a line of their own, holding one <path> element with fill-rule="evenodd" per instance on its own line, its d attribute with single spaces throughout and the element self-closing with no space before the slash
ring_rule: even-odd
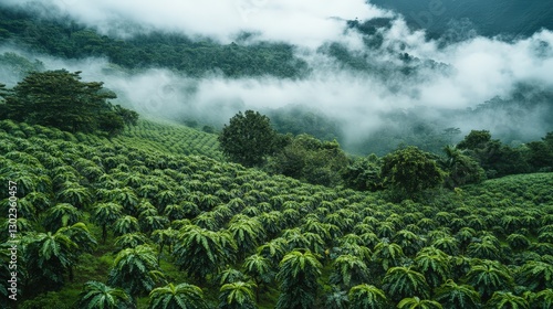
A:
<svg viewBox="0 0 553 309">
<path fill-rule="evenodd" d="M 0 129 L 18 308 L 553 306 L 553 173 L 392 203 L 171 153 L 210 140 L 175 126 L 144 121 L 113 141 Z M 0 257 L 6 283 L 12 257 Z"/>
</svg>

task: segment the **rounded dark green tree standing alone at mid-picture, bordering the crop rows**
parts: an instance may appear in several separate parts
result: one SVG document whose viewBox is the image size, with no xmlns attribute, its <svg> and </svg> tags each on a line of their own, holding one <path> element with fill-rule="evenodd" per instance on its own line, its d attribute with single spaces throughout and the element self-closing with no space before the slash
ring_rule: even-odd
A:
<svg viewBox="0 0 553 309">
<path fill-rule="evenodd" d="M 246 167 L 263 163 L 274 151 L 276 134 L 267 116 L 253 110 L 241 111 L 225 125 L 219 143 L 222 152 L 231 160 Z"/>
</svg>

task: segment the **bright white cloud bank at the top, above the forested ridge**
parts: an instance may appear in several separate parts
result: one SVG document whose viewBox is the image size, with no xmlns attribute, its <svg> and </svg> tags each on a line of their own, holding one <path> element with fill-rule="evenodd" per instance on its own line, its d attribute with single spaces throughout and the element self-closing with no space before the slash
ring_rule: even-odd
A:
<svg viewBox="0 0 553 309">
<path fill-rule="evenodd" d="M 6 0 L 21 4 L 32 0 Z M 121 20 L 228 42 L 241 31 L 261 39 L 319 46 L 338 40 L 344 20 L 382 17 L 365 0 L 50 0 L 63 12 L 103 31 Z"/>
</svg>

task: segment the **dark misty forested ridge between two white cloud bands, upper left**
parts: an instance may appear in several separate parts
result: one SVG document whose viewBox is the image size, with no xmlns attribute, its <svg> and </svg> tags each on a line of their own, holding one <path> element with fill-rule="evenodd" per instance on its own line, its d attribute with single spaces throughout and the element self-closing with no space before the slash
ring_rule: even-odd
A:
<svg viewBox="0 0 553 309">
<path fill-rule="evenodd" d="M 52 10 L 41 7 L 42 11 Z M 121 38 L 102 35 L 74 20 L 39 18 L 41 9 L 0 10 L 0 38 L 12 40 L 39 53 L 65 58 L 107 57 L 126 68 L 166 67 L 189 76 L 221 72 L 227 77 L 273 75 L 296 78 L 309 72 L 305 61 L 294 56 L 294 47 L 285 43 L 239 40 L 220 44 L 208 38 L 187 38 L 174 32 L 150 31 Z M 139 24 L 122 29 L 134 32 Z M 132 30 L 131 30 L 132 29 Z M 246 39 L 250 34 L 243 34 Z"/>
</svg>

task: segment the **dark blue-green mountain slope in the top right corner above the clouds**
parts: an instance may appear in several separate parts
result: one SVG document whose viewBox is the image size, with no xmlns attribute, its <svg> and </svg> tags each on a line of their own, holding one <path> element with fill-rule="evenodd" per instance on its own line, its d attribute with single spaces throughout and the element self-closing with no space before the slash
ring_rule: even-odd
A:
<svg viewBox="0 0 553 309">
<path fill-rule="evenodd" d="M 530 36 L 553 30 L 552 0 L 369 0 L 401 13 L 407 23 L 427 29 L 431 38 L 472 25 L 478 34 Z"/>
</svg>

